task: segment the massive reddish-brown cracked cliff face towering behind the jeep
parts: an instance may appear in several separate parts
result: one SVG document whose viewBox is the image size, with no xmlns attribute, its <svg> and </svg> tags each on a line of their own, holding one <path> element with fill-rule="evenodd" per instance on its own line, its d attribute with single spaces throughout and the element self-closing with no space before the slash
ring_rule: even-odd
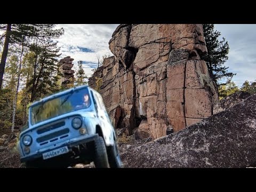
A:
<svg viewBox="0 0 256 192">
<path fill-rule="evenodd" d="M 218 94 L 198 55 L 206 52 L 199 24 L 122 24 L 109 41 L 113 57 L 89 79 L 102 78 L 100 93 L 116 128 L 159 138 L 213 114 Z"/>
</svg>

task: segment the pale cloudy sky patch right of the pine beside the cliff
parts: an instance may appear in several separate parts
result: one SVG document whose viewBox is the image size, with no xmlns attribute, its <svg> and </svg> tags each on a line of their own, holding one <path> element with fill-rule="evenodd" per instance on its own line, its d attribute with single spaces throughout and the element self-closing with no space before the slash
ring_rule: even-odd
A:
<svg viewBox="0 0 256 192">
<path fill-rule="evenodd" d="M 256 79 L 256 25 L 218 24 L 215 28 L 229 44 L 228 61 L 225 66 L 236 73 L 233 81 L 241 86 L 245 80 Z"/>
</svg>

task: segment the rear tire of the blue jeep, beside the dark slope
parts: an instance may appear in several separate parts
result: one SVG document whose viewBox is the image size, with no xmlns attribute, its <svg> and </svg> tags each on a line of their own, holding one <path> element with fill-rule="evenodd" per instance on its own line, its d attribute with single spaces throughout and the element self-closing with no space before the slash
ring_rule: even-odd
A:
<svg viewBox="0 0 256 192">
<path fill-rule="evenodd" d="M 122 162 L 116 141 L 114 146 L 110 146 L 108 148 L 108 162 L 110 168 L 122 168 Z"/>
</svg>

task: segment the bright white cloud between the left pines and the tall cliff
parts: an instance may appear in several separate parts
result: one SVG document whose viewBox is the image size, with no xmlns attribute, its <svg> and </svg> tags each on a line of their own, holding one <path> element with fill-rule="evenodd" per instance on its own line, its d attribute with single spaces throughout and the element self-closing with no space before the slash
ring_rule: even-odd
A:
<svg viewBox="0 0 256 192">
<path fill-rule="evenodd" d="M 108 42 L 118 24 L 60 24 L 57 27 L 63 27 L 64 34 L 58 39 L 61 58 L 70 56 L 74 58 L 73 63 L 77 61 L 97 63 L 97 55 L 102 57 L 105 54 L 111 54 L 108 48 Z M 90 49 L 94 52 L 83 52 L 79 47 Z M 92 75 L 92 69 L 84 65 L 87 76 Z"/>
</svg>

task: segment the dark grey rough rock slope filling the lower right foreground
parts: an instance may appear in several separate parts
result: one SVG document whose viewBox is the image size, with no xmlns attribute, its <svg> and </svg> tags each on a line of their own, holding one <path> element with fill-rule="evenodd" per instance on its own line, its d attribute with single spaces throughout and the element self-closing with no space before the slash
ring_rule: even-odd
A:
<svg viewBox="0 0 256 192">
<path fill-rule="evenodd" d="M 119 150 L 124 167 L 255 167 L 256 94 L 177 133 Z"/>
</svg>

